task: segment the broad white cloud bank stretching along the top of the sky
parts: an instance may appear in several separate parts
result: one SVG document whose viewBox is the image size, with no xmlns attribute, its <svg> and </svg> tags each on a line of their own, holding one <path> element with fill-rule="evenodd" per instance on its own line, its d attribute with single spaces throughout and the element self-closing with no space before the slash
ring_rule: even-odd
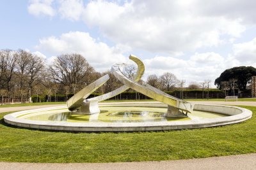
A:
<svg viewBox="0 0 256 170">
<path fill-rule="evenodd" d="M 252 0 L 96 0 L 87 4 L 82 0 L 55 0 L 55 6 L 52 1 L 31 1 L 29 13 L 53 16 L 55 10 L 61 18 L 83 18 L 86 25 L 99 28 L 116 44 L 155 53 L 182 53 L 232 43 L 245 31 L 244 23 L 256 24 L 256 3 Z"/>
</svg>

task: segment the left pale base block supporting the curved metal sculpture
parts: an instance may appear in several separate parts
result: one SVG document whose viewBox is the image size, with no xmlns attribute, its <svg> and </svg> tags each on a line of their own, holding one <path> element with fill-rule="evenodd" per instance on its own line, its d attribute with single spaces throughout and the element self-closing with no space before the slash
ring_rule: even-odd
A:
<svg viewBox="0 0 256 170">
<path fill-rule="evenodd" d="M 95 113 L 100 113 L 97 100 L 84 101 L 81 105 L 81 108 L 76 111 L 77 115 L 93 115 Z"/>
</svg>

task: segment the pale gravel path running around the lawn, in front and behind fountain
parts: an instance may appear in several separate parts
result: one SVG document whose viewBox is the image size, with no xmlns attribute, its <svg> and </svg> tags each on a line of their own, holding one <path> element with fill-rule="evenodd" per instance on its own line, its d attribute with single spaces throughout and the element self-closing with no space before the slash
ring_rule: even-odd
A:
<svg viewBox="0 0 256 170">
<path fill-rule="evenodd" d="M 144 102 L 145 103 L 145 102 Z M 191 103 L 198 104 L 227 104 L 227 105 L 243 105 L 256 106 L 256 102 L 237 101 L 237 102 L 221 102 L 221 101 L 193 101 Z M 13 108 L 0 108 L 0 113 L 6 111 L 30 110 L 36 108 L 46 108 L 58 105 L 45 106 L 23 106 Z M 118 162 L 118 163 L 76 163 L 76 164 L 50 164 L 50 163 L 19 163 L 19 162 L 0 162 L 0 170 L 2 169 L 256 169 L 256 153 L 246 155 L 231 155 L 226 157 L 210 157 L 205 159 L 188 159 L 188 160 L 167 160 L 167 161 L 151 161 L 151 162 Z"/>
</svg>

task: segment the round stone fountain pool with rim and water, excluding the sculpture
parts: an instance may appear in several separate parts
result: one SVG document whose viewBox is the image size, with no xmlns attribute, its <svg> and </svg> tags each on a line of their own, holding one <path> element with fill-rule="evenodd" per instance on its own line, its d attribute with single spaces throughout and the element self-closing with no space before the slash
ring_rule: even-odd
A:
<svg viewBox="0 0 256 170">
<path fill-rule="evenodd" d="M 252 117 L 252 111 L 236 106 L 195 104 L 188 117 L 164 117 L 161 103 L 100 103 L 100 113 L 72 113 L 67 106 L 19 111 L 4 122 L 19 127 L 58 131 L 164 131 L 235 124 Z"/>
</svg>

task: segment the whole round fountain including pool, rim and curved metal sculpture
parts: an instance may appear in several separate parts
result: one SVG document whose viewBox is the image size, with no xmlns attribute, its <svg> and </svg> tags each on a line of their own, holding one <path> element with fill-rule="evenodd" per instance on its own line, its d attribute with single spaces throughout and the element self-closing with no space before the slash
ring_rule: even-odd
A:
<svg viewBox="0 0 256 170">
<path fill-rule="evenodd" d="M 124 85 L 108 94 L 87 99 L 109 76 L 94 81 L 67 101 L 67 106 L 26 110 L 4 116 L 4 122 L 19 127 L 56 131 L 164 131 L 235 124 L 252 117 L 252 111 L 236 106 L 191 104 L 144 83 L 143 62 L 131 55 L 138 65 L 134 78 L 122 73 L 125 64 L 111 71 Z M 158 102 L 98 103 L 127 89 L 134 89 Z"/>
</svg>

